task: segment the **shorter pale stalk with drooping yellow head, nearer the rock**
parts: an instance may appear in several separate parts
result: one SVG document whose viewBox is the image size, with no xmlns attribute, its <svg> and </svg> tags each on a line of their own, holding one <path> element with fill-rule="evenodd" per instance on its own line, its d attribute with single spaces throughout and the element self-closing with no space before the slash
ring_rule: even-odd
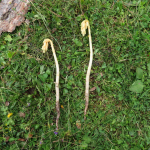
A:
<svg viewBox="0 0 150 150">
<path fill-rule="evenodd" d="M 57 111 L 56 130 L 58 130 L 58 122 L 59 122 L 59 117 L 60 117 L 60 106 L 59 106 L 59 64 L 58 64 L 58 60 L 57 60 L 57 57 L 56 57 L 56 53 L 55 53 L 53 42 L 50 39 L 45 39 L 43 41 L 43 46 L 42 46 L 43 53 L 45 53 L 47 51 L 48 43 L 50 43 L 50 45 L 51 45 L 53 56 L 54 56 L 54 60 L 55 60 L 55 65 L 56 65 L 56 82 L 55 82 L 56 111 Z"/>
</svg>

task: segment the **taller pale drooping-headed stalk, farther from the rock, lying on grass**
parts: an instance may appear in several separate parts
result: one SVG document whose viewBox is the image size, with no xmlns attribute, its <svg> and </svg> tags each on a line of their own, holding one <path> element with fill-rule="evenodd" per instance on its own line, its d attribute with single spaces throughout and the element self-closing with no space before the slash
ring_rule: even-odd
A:
<svg viewBox="0 0 150 150">
<path fill-rule="evenodd" d="M 91 29 L 88 20 L 84 20 L 81 23 L 81 33 L 84 36 L 86 34 L 86 29 L 88 28 L 89 33 L 89 45 L 90 45 L 90 61 L 89 66 L 86 74 L 86 85 L 85 85 L 85 110 L 84 110 L 84 120 L 86 120 L 86 113 L 89 105 L 89 80 L 90 80 L 90 72 L 92 68 L 92 61 L 93 61 L 93 48 L 92 48 L 92 37 L 91 37 Z"/>
</svg>

